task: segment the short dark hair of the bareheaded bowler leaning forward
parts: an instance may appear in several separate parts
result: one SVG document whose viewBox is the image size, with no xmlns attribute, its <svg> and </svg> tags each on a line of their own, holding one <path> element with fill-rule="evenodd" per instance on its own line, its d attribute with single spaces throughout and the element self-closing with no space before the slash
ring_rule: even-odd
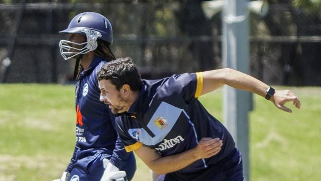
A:
<svg viewBox="0 0 321 181">
<path fill-rule="evenodd" d="M 142 79 L 136 65 L 130 57 L 118 58 L 103 65 L 97 72 L 98 80 L 110 80 L 117 90 L 124 84 L 130 86 L 130 90 L 140 90 Z"/>
</svg>

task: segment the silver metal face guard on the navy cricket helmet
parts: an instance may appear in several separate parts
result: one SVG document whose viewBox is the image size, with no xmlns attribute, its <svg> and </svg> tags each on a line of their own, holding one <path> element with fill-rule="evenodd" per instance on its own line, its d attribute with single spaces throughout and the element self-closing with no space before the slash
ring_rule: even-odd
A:
<svg viewBox="0 0 321 181">
<path fill-rule="evenodd" d="M 80 31 L 86 34 L 87 42 L 78 44 L 67 40 L 59 41 L 60 54 L 65 60 L 73 58 L 79 54 L 86 54 L 97 48 L 97 39 L 101 37 L 101 33 L 90 29 L 82 29 Z M 83 48 L 76 48 L 72 45 L 83 45 Z M 70 52 L 71 50 L 76 50 L 77 52 Z"/>
</svg>

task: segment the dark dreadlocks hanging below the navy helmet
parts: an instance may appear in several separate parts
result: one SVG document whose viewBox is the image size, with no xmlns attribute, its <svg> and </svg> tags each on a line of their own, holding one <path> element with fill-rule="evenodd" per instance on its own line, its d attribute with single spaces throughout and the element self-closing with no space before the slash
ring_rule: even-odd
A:
<svg viewBox="0 0 321 181">
<path fill-rule="evenodd" d="M 115 55 L 113 54 L 112 50 L 110 49 L 110 43 L 103 41 L 101 39 L 97 39 L 97 48 L 94 50 L 96 56 L 104 58 L 106 60 L 112 61 L 115 60 Z M 80 59 L 82 58 L 83 54 L 80 54 L 79 58 L 77 58 L 75 71 L 74 71 L 74 80 L 78 81 L 80 78 L 80 73 L 83 71 L 83 68 L 80 63 Z"/>
</svg>

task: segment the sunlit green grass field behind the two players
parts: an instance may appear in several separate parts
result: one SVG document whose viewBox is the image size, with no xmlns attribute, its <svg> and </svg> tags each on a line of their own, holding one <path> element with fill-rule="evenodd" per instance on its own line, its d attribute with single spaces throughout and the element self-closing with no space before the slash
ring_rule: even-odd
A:
<svg viewBox="0 0 321 181">
<path fill-rule="evenodd" d="M 321 88 L 290 88 L 301 109 L 289 114 L 254 96 L 249 114 L 251 181 L 320 181 Z M 60 178 L 75 145 L 74 86 L 0 84 L 0 181 Z M 222 92 L 201 97 L 222 120 Z M 150 181 L 137 159 L 134 181 Z"/>
</svg>

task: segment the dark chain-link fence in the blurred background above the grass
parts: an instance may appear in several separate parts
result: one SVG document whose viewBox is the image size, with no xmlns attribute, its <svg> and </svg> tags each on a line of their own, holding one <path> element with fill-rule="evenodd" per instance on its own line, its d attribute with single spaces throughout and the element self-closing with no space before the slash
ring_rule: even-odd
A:
<svg viewBox="0 0 321 181">
<path fill-rule="evenodd" d="M 2 83 L 69 83 L 74 60 L 63 60 L 58 32 L 78 13 L 105 15 L 116 57 L 130 56 L 143 78 L 221 67 L 221 13 L 204 16 L 199 1 L 170 3 L 1 3 Z M 321 10 L 270 5 L 250 13 L 251 75 L 278 85 L 321 86 Z"/>
</svg>

